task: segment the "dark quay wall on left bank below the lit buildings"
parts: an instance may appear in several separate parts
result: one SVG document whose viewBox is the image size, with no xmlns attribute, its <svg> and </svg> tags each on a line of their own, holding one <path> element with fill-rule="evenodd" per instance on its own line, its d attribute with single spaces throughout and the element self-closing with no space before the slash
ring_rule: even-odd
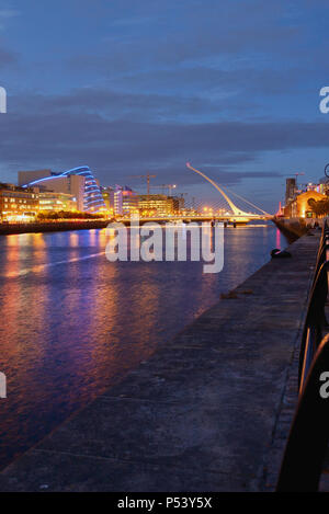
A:
<svg viewBox="0 0 329 514">
<path fill-rule="evenodd" d="M 67 230 L 89 230 L 105 228 L 109 220 L 88 220 L 88 221 L 47 221 L 29 224 L 0 224 L 0 236 L 10 236 L 14 233 L 38 233 L 38 232 L 60 232 Z"/>
</svg>

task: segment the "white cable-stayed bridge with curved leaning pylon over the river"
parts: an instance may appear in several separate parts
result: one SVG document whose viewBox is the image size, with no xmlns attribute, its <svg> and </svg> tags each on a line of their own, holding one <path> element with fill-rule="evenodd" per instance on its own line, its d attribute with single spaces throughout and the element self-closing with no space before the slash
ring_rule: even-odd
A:
<svg viewBox="0 0 329 514">
<path fill-rule="evenodd" d="M 242 196 L 237 195 L 232 191 L 228 190 L 229 195 L 235 197 L 235 201 L 228 196 L 228 194 L 224 191 L 223 186 L 220 187 L 215 181 L 209 179 L 205 173 L 202 171 L 196 170 L 191 165 L 190 162 L 186 162 L 186 167 L 192 170 L 193 172 L 201 175 L 207 182 L 209 182 L 215 190 L 219 193 L 215 201 L 212 201 L 206 206 L 204 203 L 196 202 L 195 198 L 188 201 L 186 194 L 181 194 L 181 197 L 177 197 L 175 199 L 181 199 L 180 205 L 177 208 L 177 214 L 163 214 L 162 216 L 158 214 L 151 213 L 140 213 L 140 221 L 224 221 L 226 224 L 236 225 L 246 225 L 252 220 L 268 220 L 272 219 L 273 216 L 262 208 L 258 207 L 257 205 L 252 204 Z M 252 207 L 252 210 L 250 209 Z"/>
</svg>

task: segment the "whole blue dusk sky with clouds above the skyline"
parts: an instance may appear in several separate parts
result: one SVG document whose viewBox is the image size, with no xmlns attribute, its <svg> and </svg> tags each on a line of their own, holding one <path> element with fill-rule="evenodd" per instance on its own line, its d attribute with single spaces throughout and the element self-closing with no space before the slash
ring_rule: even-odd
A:
<svg viewBox="0 0 329 514">
<path fill-rule="evenodd" d="M 329 162 L 328 21 L 328 0 L 0 0 L 0 180 L 87 164 L 215 197 L 190 160 L 274 212 Z"/>
</svg>

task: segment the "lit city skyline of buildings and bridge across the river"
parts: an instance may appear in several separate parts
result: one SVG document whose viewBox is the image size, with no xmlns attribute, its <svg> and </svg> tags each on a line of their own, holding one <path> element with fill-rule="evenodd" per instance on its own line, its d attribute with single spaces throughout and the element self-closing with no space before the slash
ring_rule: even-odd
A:
<svg viewBox="0 0 329 514">
<path fill-rule="evenodd" d="M 237 214 L 239 210 L 239 215 L 248 215 L 251 213 L 259 215 L 261 213 L 265 216 L 275 216 L 280 215 L 282 206 L 287 206 L 291 201 L 295 198 L 296 194 L 300 194 L 306 191 L 315 191 L 320 194 L 320 196 L 326 196 L 328 191 L 328 184 L 325 178 L 318 181 L 319 183 L 308 182 L 299 184 L 297 182 L 299 173 L 295 173 L 294 178 L 286 179 L 285 198 L 280 199 L 276 213 L 270 214 L 249 202 L 248 198 L 243 198 L 236 194 L 232 190 L 227 187 L 224 187 L 223 190 L 218 183 L 214 182 L 200 170 L 195 170 L 190 162 L 186 162 L 186 168 L 196 172 L 198 175 L 202 175 L 204 181 L 209 182 L 212 185 L 211 190 L 217 190 L 217 196 L 207 202 L 203 197 L 189 196 L 186 193 L 182 193 L 177 184 L 155 184 L 152 182 L 152 185 L 150 185 L 150 179 L 156 179 L 156 175 L 149 174 L 129 176 L 129 179 L 137 178 L 145 180 L 144 185 L 139 185 L 137 187 L 134 187 L 132 184 L 101 184 L 99 180 L 94 178 L 93 172 L 89 167 L 78 167 L 61 172 L 50 169 L 21 170 L 18 172 L 18 180 L 15 181 L 16 184 L 0 182 L 0 189 L 5 190 L 5 186 L 9 186 L 9 189 L 18 189 L 19 191 L 27 187 L 31 192 L 37 192 L 39 196 L 44 193 L 45 199 L 41 202 L 41 204 L 46 205 L 46 210 L 50 209 L 53 201 L 56 202 L 58 199 L 59 205 L 56 206 L 54 210 L 59 210 L 60 205 L 65 204 L 66 207 L 64 210 L 69 210 L 71 213 L 89 212 L 97 214 L 100 208 L 100 212 L 104 215 L 105 212 L 107 213 L 107 217 L 123 214 L 125 214 L 125 216 L 129 216 L 131 214 L 134 215 L 135 212 L 137 213 L 137 210 L 140 215 L 149 215 L 151 212 L 154 214 L 158 212 L 160 216 L 167 212 L 168 214 L 169 212 L 174 212 L 177 214 L 184 214 L 188 212 L 200 214 L 213 213 L 215 216 L 216 214 L 228 214 L 228 212 L 232 214 L 236 212 Z M 304 173 L 302 173 L 302 175 L 304 175 Z M 161 193 L 159 190 L 161 190 Z M 118 199 L 120 196 L 121 199 Z M 229 196 L 231 198 L 229 198 Z M 238 205 L 234 205 L 231 203 L 232 199 L 235 204 L 238 203 Z M 121 207 L 118 207 L 118 202 Z M 145 202 L 146 204 L 144 205 Z M 170 202 L 170 204 L 168 204 L 168 202 Z M 173 207 L 172 202 L 177 203 L 175 207 Z M 95 203 L 98 204 L 97 208 Z M 152 203 L 157 204 L 157 208 L 152 206 Z M 169 205 L 171 205 L 171 207 Z M 90 209 L 90 207 L 92 208 Z M 7 214 L 12 215 L 12 213 Z M 31 213 L 29 213 L 29 216 L 30 215 Z"/>
</svg>

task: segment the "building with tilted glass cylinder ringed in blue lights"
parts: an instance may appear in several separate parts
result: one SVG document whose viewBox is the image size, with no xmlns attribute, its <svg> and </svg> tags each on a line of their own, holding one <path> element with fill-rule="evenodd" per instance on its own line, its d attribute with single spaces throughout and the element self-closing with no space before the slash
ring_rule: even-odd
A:
<svg viewBox="0 0 329 514">
<path fill-rule="evenodd" d="M 42 171 L 46 174 L 41 178 Z M 77 199 L 78 210 L 98 213 L 105 209 L 100 186 L 88 167 L 73 168 L 63 173 L 50 170 L 20 172 L 20 183 L 24 180 L 23 187 L 37 186 L 44 191 L 72 195 Z"/>
</svg>

